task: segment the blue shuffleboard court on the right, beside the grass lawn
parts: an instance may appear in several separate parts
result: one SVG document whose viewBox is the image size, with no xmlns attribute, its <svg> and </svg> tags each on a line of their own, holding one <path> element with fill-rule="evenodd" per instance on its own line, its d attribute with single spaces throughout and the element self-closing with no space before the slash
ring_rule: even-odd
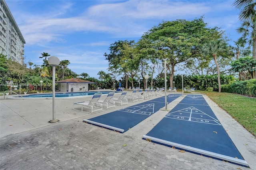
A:
<svg viewBox="0 0 256 170">
<path fill-rule="evenodd" d="M 144 139 L 248 167 L 202 95 L 187 95 Z"/>
</svg>

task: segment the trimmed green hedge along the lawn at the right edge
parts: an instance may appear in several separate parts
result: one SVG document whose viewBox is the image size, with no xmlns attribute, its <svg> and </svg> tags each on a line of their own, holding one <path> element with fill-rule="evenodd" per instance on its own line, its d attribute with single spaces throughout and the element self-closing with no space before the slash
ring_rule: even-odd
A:
<svg viewBox="0 0 256 170">
<path fill-rule="evenodd" d="M 221 92 L 238 93 L 241 95 L 256 97 L 256 79 L 235 81 L 229 85 L 222 85 Z"/>
</svg>

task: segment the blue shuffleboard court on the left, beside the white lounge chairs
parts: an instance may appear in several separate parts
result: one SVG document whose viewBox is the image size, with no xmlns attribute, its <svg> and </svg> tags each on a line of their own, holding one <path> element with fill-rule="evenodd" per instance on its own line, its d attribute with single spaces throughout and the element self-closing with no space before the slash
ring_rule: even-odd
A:
<svg viewBox="0 0 256 170">
<path fill-rule="evenodd" d="M 181 95 L 167 95 L 167 102 L 170 103 L 180 96 Z M 84 119 L 83 122 L 123 133 L 150 117 L 164 106 L 165 97 L 158 97 L 92 119 Z"/>
</svg>

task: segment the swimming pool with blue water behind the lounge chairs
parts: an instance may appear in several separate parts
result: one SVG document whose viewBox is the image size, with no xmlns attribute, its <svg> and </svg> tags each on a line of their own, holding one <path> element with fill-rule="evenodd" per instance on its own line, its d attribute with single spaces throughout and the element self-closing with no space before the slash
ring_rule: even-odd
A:
<svg viewBox="0 0 256 170">
<path fill-rule="evenodd" d="M 95 93 L 108 94 L 110 91 L 93 91 L 93 92 L 67 92 L 67 93 L 55 93 L 55 99 L 70 99 L 80 98 L 94 95 Z M 120 93 L 116 91 L 116 93 Z M 8 96 L 7 99 L 52 99 L 52 93 L 39 93 L 39 94 L 28 94 L 28 95 L 14 95 Z"/>
</svg>

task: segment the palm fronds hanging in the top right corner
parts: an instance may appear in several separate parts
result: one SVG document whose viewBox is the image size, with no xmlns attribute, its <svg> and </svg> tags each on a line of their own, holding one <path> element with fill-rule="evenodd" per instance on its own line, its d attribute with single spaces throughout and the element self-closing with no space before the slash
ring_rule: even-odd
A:
<svg viewBox="0 0 256 170">
<path fill-rule="evenodd" d="M 233 6 L 235 6 L 236 9 L 241 10 L 239 13 L 240 20 L 256 20 L 256 0 L 235 0 Z"/>
</svg>

